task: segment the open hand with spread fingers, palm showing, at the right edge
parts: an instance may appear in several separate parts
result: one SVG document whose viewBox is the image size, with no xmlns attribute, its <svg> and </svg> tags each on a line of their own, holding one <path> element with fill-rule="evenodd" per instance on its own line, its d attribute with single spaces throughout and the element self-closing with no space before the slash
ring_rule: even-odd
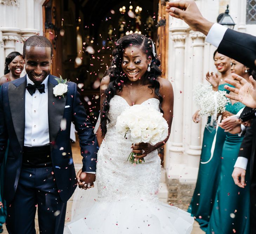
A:
<svg viewBox="0 0 256 234">
<path fill-rule="evenodd" d="M 234 80 L 225 79 L 225 82 L 235 86 L 235 88 L 229 87 L 227 85 L 225 85 L 224 88 L 238 95 L 234 96 L 226 94 L 226 97 L 239 101 L 245 106 L 256 108 L 256 81 L 252 78 L 252 76 L 250 76 L 249 82 L 242 78 L 242 76 L 234 73 L 232 74 L 232 77 Z M 235 80 L 239 81 L 239 83 L 237 83 Z"/>
</svg>

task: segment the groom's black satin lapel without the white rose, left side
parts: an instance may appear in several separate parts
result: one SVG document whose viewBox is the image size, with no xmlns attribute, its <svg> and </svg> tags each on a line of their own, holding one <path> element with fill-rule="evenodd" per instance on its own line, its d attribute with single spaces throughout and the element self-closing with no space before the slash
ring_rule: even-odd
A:
<svg viewBox="0 0 256 234">
<path fill-rule="evenodd" d="M 21 149 L 24 146 L 25 132 L 25 91 L 26 75 L 9 83 L 8 98 L 11 109 L 13 127 Z"/>
</svg>

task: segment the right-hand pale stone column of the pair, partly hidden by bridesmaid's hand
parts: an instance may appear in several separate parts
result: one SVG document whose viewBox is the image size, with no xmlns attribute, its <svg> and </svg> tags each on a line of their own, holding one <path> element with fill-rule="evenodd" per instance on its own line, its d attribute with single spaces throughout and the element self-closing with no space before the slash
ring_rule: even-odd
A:
<svg viewBox="0 0 256 234">
<path fill-rule="evenodd" d="M 192 39 L 192 87 L 194 90 L 198 83 L 203 82 L 203 61 L 204 61 L 204 39 L 205 35 L 200 32 L 190 31 L 189 37 Z M 191 100 L 192 112 L 198 109 L 196 103 Z M 191 120 L 192 122 L 192 120 Z M 188 165 L 198 167 L 199 156 L 201 154 L 201 122 L 191 124 L 190 145 L 187 150 Z"/>
</svg>

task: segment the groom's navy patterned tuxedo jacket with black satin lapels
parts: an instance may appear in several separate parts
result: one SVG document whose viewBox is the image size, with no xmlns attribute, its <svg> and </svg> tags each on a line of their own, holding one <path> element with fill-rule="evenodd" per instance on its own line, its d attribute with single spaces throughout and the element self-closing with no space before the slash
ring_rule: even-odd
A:
<svg viewBox="0 0 256 234">
<path fill-rule="evenodd" d="M 57 77 L 49 74 L 49 136 L 54 176 L 61 200 L 65 202 L 76 188 L 76 173 L 70 143 L 71 121 L 78 132 L 84 172 L 96 171 L 98 143 L 80 101 L 76 83 L 67 82 L 68 92 L 64 98 L 59 98 L 59 96 L 53 95 L 53 87 L 58 85 L 54 78 Z M 25 132 L 25 91 L 26 76 L 4 83 L 0 89 L 0 164 L 3 161 L 9 139 L 4 187 L 6 201 L 12 201 L 14 198 L 21 172 Z M 66 119 L 65 130 L 60 129 L 62 119 Z"/>
</svg>

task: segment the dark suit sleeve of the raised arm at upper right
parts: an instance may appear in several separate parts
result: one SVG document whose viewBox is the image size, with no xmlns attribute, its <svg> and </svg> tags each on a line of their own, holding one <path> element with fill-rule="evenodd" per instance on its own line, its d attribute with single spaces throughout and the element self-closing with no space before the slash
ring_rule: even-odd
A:
<svg viewBox="0 0 256 234">
<path fill-rule="evenodd" d="M 219 44 L 218 52 L 241 62 L 251 69 L 256 69 L 256 37 L 227 29 Z"/>
</svg>

